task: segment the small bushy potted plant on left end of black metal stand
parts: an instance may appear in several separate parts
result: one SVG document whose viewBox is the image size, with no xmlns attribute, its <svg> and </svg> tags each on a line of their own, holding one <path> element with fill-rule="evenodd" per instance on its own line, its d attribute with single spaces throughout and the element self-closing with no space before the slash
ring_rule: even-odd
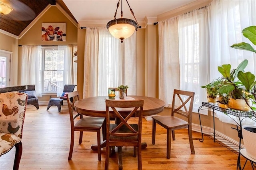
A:
<svg viewBox="0 0 256 170">
<path fill-rule="evenodd" d="M 208 102 L 216 102 L 217 96 L 218 96 L 218 89 L 219 85 L 221 84 L 222 80 L 219 79 L 213 79 L 211 83 L 208 83 L 207 85 L 201 86 L 204 88 L 207 92 L 207 101 Z"/>
</svg>

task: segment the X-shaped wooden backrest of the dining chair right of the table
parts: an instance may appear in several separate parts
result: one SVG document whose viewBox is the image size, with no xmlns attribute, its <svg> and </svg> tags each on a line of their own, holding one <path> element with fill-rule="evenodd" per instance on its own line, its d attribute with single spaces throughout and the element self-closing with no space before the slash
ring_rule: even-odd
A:
<svg viewBox="0 0 256 170">
<path fill-rule="evenodd" d="M 177 113 L 188 118 L 188 122 L 191 123 L 194 95 L 195 93 L 192 91 L 174 89 L 172 98 L 172 116 Z"/>
</svg>

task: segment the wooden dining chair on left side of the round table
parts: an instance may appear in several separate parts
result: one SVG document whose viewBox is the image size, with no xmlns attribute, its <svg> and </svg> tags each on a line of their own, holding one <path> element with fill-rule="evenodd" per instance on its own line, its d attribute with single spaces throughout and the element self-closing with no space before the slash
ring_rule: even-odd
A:
<svg viewBox="0 0 256 170">
<path fill-rule="evenodd" d="M 74 132 L 80 131 L 79 136 L 79 144 L 82 143 L 83 132 L 97 132 L 97 144 L 98 144 L 98 160 L 101 160 L 101 150 L 100 150 L 100 129 L 105 121 L 105 118 L 98 118 L 98 117 L 84 117 L 83 115 L 76 113 L 74 111 L 74 103 L 79 100 L 79 93 L 78 91 L 70 92 L 67 94 L 68 99 L 68 110 L 70 115 L 70 125 L 71 125 L 71 140 L 70 140 L 70 150 L 68 155 L 68 160 L 72 158 L 73 148 L 74 148 Z M 84 103 L 86 104 L 86 103 Z M 77 117 L 80 117 L 76 123 Z"/>
</svg>

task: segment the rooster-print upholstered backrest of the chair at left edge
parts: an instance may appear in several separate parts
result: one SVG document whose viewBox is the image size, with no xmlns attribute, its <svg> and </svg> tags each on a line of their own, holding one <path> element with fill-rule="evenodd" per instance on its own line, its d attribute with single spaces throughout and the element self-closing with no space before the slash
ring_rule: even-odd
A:
<svg viewBox="0 0 256 170">
<path fill-rule="evenodd" d="M 0 133 L 22 138 L 27 100 L 28 95 L 23 92 L 0 93 Z"/>
</svg>

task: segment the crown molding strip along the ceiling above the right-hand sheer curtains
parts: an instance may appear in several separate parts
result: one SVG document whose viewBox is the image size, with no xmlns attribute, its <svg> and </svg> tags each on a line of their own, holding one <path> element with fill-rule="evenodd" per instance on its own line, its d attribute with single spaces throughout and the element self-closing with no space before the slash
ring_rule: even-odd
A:
<svg viewBox="0 0 256 170">
<path fill-rule="evenodd" d="M 191 2 L 189 4 L 186 4 L 184 6 L 181 6 L 179 8 L 176 8 L 174 10 L 165 12 L 163 14 L 160 14 L 157 16 L 157 21 L 162 21 L 162 20 L 166 20 L 169 18 L 172 18 L 174 16 L 178 16 L 180 14 L 184 14 L 188 11 L 194 10 L 194 9 L 198 9 L 201 8 L 203 6 L 207 6 L 208 4 L 210 4 L 212 2 L 212 0 L 196 0 L 194 2 Z"/>
</svg>

